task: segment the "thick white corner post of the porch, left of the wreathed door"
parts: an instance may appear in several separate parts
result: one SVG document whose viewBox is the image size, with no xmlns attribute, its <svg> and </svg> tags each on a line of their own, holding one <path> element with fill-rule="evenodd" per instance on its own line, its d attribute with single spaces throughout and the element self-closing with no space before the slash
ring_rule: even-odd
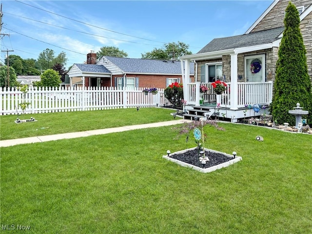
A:
<svg viewBox="0 0 312 234">
<path fill-rule="evenodd" d="M 237 90 L 237 54 L 231 55 L 231 110 L 237 110 L 238 108 L 238 90 Z"/>
</svg>

